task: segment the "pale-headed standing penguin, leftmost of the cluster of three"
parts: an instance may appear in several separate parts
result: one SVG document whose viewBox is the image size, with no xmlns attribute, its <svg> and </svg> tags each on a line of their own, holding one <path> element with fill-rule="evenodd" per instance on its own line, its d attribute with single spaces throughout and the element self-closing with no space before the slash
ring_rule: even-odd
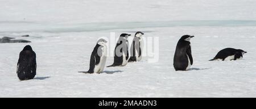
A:
<svg viewBox="0 0 256 109">
<path fill-rule="evenodd" d="M 87 72 L 83 73 L 101 73 L 104 70 L 106 64 L 107 46 L 106 40 L 100 39 L 97 41 L 96 46 L 90 55 L 90 68 Z"/>
</svg>

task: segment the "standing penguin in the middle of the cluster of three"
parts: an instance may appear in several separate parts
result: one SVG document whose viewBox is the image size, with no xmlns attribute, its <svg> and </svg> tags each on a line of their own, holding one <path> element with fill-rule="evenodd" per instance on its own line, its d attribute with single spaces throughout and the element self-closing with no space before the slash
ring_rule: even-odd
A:
<svg viewBox="0 0 256 109">
<path fill-rule="evenodd" d="M 108 67 L 114 66 L 126 66 L 129 60 L 129 52 L 128 52 L 128 40 L 127 37 L 131 36 L 131 34 L 122 33 L 117 41 L 117 45 L 115 46 L 114 51 L 114 63 Z"/>
</svg>

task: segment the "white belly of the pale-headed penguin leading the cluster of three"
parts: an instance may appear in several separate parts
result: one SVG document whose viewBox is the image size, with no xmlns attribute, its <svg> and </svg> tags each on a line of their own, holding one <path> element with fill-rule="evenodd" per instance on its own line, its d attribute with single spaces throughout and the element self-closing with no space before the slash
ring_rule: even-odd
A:
<svg viewBox="0 0 256 109">
<path fill-rule="evenodd" d="M 106 55 L 107 55 L 107 48 L 106 46 L 102 47 L 102 56 L 100 58 L 100 63 L 98 63 L 94 67 L 94 73 L 101 73 L 104 70 L 105 64 L 106 64 Z"/>
</svg>

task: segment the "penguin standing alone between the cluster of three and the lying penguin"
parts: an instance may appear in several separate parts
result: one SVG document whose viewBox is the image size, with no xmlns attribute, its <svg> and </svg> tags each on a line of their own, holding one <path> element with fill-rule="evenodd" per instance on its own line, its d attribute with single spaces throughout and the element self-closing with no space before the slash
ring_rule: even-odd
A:
<svg viewBox="0 0 256 109">
<path fill-rule="evenodd" d="M 187 71 L 193 64 L 190 39 L 194 36 L 184 35 L 177 42 L 174 54 L 174 68 L 176 71 Z"/>
</svg>

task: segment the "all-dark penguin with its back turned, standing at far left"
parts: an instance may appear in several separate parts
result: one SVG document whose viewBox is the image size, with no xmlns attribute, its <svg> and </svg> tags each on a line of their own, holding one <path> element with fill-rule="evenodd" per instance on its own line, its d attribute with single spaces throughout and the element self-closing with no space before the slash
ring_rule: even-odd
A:
<svg viewBox="0 0 256 109">
<path fill-rule="evenodd" d="M 36 54 L 30 45 L 25 46 L 19 53 L 17 74 L 19 80 L 34 79 L 36 75 Z"/>
</svg>

